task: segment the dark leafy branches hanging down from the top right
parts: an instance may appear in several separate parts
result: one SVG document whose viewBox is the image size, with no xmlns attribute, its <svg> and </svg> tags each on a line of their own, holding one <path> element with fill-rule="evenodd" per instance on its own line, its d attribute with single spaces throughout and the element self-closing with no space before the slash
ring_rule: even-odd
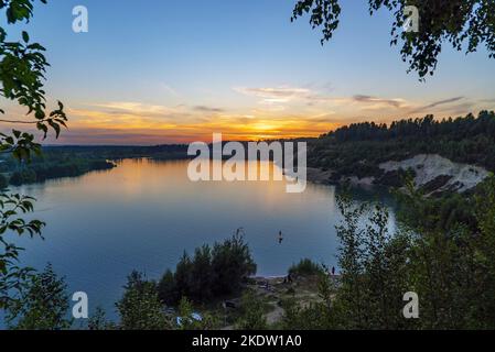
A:
<svg viewBox="0 0 495 352">
<path fill-rule="evenodd" d="M 493 0 L 368 0 L 369 13 L 385 8 L 394 13 L 390 45 L 402 44 L 400 54 L 408 63 L 408 72 L 417 72 L 420 79 L 433 75 L 444 43 L 458 51 L 475 52 L 485 45 L 495 57 L 495 1 Z M 419 31 L 402 31 L 407 13 L 415 6 L 419 11 Z M 299 0 L 292 21 L 310 14 L 310 24 L 322 29 L 325 41 L 338 26 L 342 8 L 338 0 Z"/>
</svg>

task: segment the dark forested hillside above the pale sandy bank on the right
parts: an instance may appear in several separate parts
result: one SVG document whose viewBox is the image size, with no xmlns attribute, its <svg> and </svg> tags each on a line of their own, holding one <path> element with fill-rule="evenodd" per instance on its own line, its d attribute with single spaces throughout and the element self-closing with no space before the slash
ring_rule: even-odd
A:
<svg viewBox="0 0 495 352">
<path fill-rule="evenodd" d="M 309 143 L 308 165 L 342 176 L 380 176 L 378 165 L 418 154 L 439 154 L 453 162 L 495 170 L 495 113 L 437 121 L 433 116 L 395 121 L 353 123 Z"/>
</svg>

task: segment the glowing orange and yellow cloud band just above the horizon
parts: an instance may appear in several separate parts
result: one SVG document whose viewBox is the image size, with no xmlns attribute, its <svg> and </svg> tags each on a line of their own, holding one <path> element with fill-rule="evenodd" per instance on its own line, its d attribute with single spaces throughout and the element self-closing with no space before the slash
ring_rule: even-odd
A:
<svg viewBox="0 0 495 352">
<path fill-rule="evenodd" d="M 407 101 L 356 95 L 327 97 L 305 88 L 236 88 L 261 99 L 255 108 L 225 108 L 204 103 L 161 106 L 134 101 L 69 105 L 69 130 L 60 144 L 163 144 L 224 140 L 265 140 L 318 136 L 358 121 L 390 122 L 434 113 L 438 118 L 476 112 L 478 103 L 462 97 L 442 97 L 433 102 Z M 465 111 L 463 111 L 465 110 Z M 13 119 L 25 119 L 11 109 Z M 7 131 L 11 125 L 0 124 Z M 34 129 L 31 127 L 31 131 Z"/>
</svg>

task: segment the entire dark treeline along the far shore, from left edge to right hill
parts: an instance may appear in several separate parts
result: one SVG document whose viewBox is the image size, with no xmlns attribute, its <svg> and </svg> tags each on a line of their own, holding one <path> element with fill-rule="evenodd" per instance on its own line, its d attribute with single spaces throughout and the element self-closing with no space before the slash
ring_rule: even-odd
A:
<svg viewBox="0 0 495 352">
<path fill-rule="evenodd" d="M 402 161 L 418 154 L 439 154 L 453 162 L 495 170 L 493 111 L 482 111 L 477 118 L 470 113 L 441 121 L 427 116 L 422 119 L 395 121 L 389 125 L 375 122 L 353 123 L 318 139 L 294 141 L 308 142 L 308 166 L 332 170 L 330 182 L 349 176 L 380 179 L 384 178 L 384 173 L 378 167 L 380 163 Z M 243 145 L 246 146 L 247 142 L 243 142 Z M 34 157 L 31 163 L 19 165 L 13 160 L 2 160 L 0 186 L 79 176 L 89 170 L 114 167 L 108 160 L 150 157 L 160 161 L 194 157 L 187 155 L 187 144 L 44 146 L 43 155 Z M 394 179 L 385 177 L 383 183 L 378 183 L 397 186 L 399 176 Z"/>
</svg>

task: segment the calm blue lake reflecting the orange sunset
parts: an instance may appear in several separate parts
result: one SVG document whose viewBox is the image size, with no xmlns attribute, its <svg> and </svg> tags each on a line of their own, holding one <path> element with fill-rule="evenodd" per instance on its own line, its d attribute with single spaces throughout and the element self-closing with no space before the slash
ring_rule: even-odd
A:
<svg viewBox="0 0 495 352">
<path fill-rule="evenodd" d="M 193 183 L 186 169 L 186 161 L 125 160 L 111 170 L 12 189 L 35 197 L 34 217 L 47 223 L 44 241 L 19 241 L 23 264 L 51 262 L 71 293 L 86 292 L 92 310 L 103 306 L 109 317 L 132 270 L 159 278 L 184 251 L 238 228 L 258 275 L 286 275 L 303 257 L 336 265 L 335 187 L 288 194 L 284 182 Z"/>
</svg>

